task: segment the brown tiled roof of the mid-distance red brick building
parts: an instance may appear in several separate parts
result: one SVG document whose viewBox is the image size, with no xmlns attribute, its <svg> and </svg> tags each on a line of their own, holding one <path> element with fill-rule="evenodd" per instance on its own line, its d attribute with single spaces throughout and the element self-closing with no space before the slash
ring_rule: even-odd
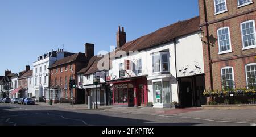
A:
<svg viewBox="0 0 256 137">
<path fill-rule="evenodd" d="M 57 60 L 54 64 L 49 66 L 49 68 L 57 67 L 59 65 L 71 63 L 72 61 L 80 61 L 80 62 L 86 62 L 85 53 L 76 53 L 74 55 L 64 57 L 63 59 Z"/>
</svg>

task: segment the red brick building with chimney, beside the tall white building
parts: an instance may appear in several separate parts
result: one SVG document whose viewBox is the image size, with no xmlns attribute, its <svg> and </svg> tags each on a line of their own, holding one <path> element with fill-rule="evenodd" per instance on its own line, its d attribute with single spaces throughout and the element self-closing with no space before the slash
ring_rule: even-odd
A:
<svg viewBox="0 0 256 137">
<path fill-rule="evenodd" d="M 49 66 L 51 92 L 47 90 L 46 102 L 51 98 L 53 103 L 69 103 L 72 102 L 73 97 L 74 103 L 85 103 L 85 92 L 77 92 L 77 88 L 69 89 L 69 80 L 73 78 L 77 85 L 77 72 L 86 67 L 92 56 L 94 56 L 94 44 L 87 43 L 85 53 L 64 57 Z"/>
</svg>

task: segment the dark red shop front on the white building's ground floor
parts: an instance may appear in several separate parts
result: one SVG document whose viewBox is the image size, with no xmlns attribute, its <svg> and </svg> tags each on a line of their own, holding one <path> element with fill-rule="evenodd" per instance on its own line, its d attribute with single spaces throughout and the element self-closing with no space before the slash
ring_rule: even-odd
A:
<svg viewBox="0 0 256 137">
<path fill-rule="evenodd" d="M 147 78 L 134 77 L 109 81 L 113 95 L 113 105 L 129 107 L 145 106 L 148 102 Z"/>
</svg>

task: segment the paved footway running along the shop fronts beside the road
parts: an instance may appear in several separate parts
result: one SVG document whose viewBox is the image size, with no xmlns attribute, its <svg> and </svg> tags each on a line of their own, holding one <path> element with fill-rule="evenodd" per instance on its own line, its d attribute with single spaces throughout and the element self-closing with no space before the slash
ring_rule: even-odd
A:
<svg viewBox="0 0 256 137">
<path fill-rule="evenodd" d="M 39 103 L 40 106 L 49 106 L 46 103 Z M 59 107 L 62 109 L 89 110 L 87 105 L 54 104 L 51 107 Z M 93 109 L 92 109 L 93 110 Z M 255 110 L 203 110 L 201 107 L 187 109 L 156 109 L 152 107 L 127 107 L 127 106 L 98 106 L 98 110 L 112 113 L 127 114 L 147 114 L 159 115 L 163 117 L 181 117 L 192 119 L 203 119 L 205 121 L 224 121 L 256 124 Z"/>
</svg>

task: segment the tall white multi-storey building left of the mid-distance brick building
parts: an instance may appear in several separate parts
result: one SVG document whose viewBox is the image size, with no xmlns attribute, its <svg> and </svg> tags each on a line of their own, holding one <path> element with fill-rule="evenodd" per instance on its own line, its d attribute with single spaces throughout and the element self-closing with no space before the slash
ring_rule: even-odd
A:
<svg viewBox="0 0 256 137">
<path fill-rule="evenodd" d="M 46 97 L 46 89 L 49 88 L 49 65 L 69 55 L 72 53 L 58 49 L 58 51 L 52 51 L 38 57 L 38 60 L 33 63 L 34 92 L 32 92 L 32 96 L 37 99 L 42 96 Z"/>
</svg>

